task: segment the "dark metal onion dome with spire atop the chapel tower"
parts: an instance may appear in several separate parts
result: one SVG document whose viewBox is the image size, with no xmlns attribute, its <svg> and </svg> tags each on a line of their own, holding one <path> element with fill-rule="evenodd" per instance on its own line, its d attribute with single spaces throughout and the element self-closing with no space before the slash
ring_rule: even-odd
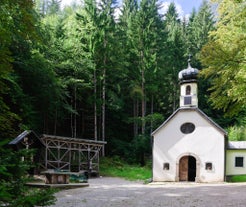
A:
<svg viewBox="0 0 246 207">
<path fill-rule="evenodd" d="M 188 68 L 183 69 L 179 72 L 179 81 L 182 82 L 196 82 L 197 81 L 197 75 L 198 75 L 198 69 L 192 68 L 190 65 L 191 59 L 189 57 L 188 59 Z"/>
</svg>

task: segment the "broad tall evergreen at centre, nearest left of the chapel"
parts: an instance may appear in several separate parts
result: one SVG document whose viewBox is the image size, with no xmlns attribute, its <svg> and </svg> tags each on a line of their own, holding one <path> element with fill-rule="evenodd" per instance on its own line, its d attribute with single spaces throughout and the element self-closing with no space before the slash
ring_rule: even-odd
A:
<svg viewBox="0 0 246 207">
<path fill-rule="evenodd" d="M 133 7 L 134 8 L 134 7 Z M 133 9 L 133 15 L 136 10 Z M 123 15 L 126 15 L 123 13 Z M 140 137 L 137 143 L 144 145 L 141 139 L 145 139 L 147 134 L 147 112 L 150 109 L 151 93 L 153 87 L 154 73 L 157 71 L 157 42 L 158 26 L 160 18 L 156 1 L 141 1 L 135 18 L 129 17 L 131 27 L 127 30 L 126 35 L 129 53 L 133 54 L 134 59 L 129 63 L 129 77 L 131 77 L 131 87 L 133 94 L 133 111 L 134 111 L 134 134 Z M 132 57 L 131 57 L 132 58 Z M 148 107 L 149 105 L 149 107 Z M 138 122 L 137 122 L 138 121 Z M 138 123 L 140 125 L 138 126 Z M 142 146 L 140 146 L 142 147 Z M 143 152 L 139 154 L 141 162 L 144 163 Z"/>
</svg>

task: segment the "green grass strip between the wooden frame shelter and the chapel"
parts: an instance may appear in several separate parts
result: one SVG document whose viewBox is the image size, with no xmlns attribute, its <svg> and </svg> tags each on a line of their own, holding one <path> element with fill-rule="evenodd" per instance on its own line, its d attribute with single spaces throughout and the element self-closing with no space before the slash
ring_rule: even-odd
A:
<svg viewBox="0 0 246 207">
<path fill-rule="evenodd" d="M 102 158 L 100 160 L 100 175 L 143 181 L 152 177 L 150 164 L 144 167 L 129 165 L 118 157 Z"/>
</svg>

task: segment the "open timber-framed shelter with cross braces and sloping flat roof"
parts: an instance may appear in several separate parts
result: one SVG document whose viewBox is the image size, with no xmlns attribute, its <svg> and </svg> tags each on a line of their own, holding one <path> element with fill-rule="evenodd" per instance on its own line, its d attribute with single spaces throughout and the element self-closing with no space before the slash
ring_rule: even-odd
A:
<svg viewBox="0 0 246 207">
<path fill-rule="evenodd" d="M 45 143 L 46 169 L 99 172 L 99 152 L 106 142 L 46 134 L 41 139 Z"/>
</svg>

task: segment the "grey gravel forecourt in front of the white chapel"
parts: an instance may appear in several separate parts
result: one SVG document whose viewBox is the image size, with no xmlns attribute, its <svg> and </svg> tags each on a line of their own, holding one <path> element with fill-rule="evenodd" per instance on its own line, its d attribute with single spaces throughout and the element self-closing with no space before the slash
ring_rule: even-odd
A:
<svg viewBox="0 0 246 207">
<path fill-rule="evenodd" d="M 246 183 L 150 183 L 120 178 L 89 180 L 62 190 L 53 207 L 245 207 Z"/>
</svg>

